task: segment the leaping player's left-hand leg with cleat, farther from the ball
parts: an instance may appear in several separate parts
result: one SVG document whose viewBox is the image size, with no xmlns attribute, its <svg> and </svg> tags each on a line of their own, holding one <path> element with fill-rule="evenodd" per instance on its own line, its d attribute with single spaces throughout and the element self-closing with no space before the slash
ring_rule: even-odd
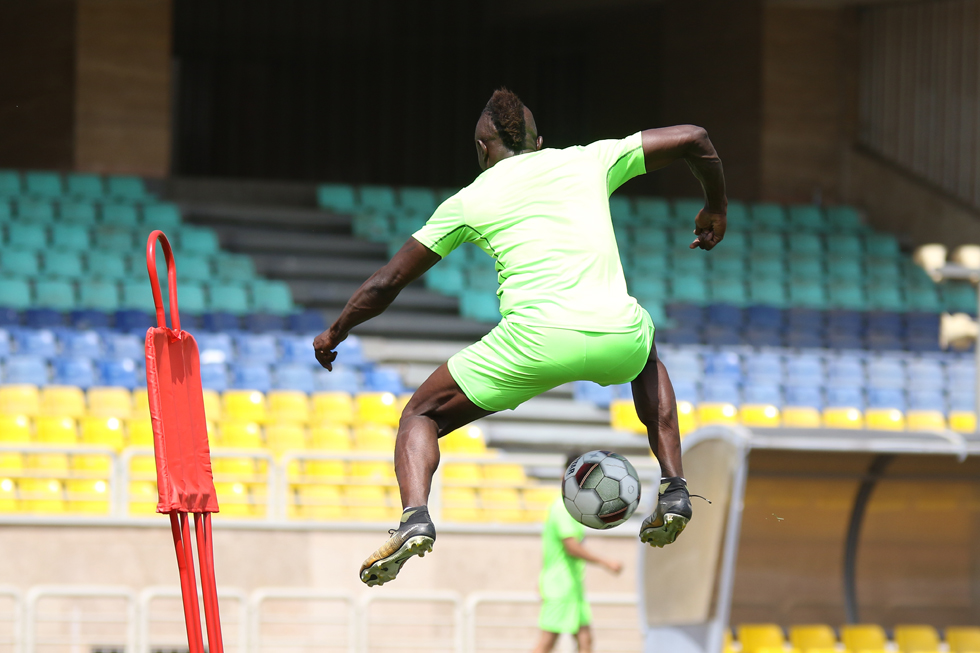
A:
<svg viewBox="0 0 980 653">
<path fill-rule="evenodd" d="M 441 365 L 425 380 L 402 411 L 395 440 L 395 476 L 402 500 L 402 517 L 388 540 L 361 565 L 368 586 L 393 580 L 412 556 L 432 550 L 436 529 L 426 504 L 432 475 L 439 466 L 439 438 L 486 417 L 486 411 L 463 393 Z"/>
</svg>

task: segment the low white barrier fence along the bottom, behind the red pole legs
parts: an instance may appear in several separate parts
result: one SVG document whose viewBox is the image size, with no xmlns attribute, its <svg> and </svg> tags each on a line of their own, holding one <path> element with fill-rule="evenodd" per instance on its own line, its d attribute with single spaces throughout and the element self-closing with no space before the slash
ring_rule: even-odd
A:
<svg viewBox="0 0 980 653">
<path fill-rule="evenodd" d="M 524 592 L 219 590 L 229 653 L 527 651 L 538 597 Z M 591 595 L 596 651 L 641 650 L 633 595 Z M 569 642 L 566 648 L 572 650 Z M 3 653 L 186 653 L 178 587 L 0 586 Z"/>
</svg>

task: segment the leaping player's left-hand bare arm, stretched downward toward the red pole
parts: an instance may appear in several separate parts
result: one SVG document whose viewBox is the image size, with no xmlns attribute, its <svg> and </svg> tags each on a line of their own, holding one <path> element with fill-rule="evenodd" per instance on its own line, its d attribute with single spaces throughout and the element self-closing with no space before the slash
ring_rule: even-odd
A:
<svg viewBox="0 0 980 653">
<path fill-rule="evenodd" d="M 383 313 L 402 288 L 425 274 L 439 260 L 438 254 L 409 238 L 384 267 L 354 292 L 337 321 L 313 340 L 313 350 L 320 365 L 332 370 L 337 358 L 334 350 L 347 338 L 350 330 Z"/>
</svg>

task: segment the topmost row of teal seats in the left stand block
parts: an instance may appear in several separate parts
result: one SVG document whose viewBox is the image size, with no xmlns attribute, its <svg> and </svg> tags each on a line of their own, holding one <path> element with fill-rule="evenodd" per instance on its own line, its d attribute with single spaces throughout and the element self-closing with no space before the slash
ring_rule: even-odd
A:
<svg viewBox="0 0 980 653">
<path fill-rule="evenodd" d="M 0 197 L 78 198 L 88 200 L 153 199 L 139 177 L 95 174 L 68 174 L 16 170 L 0 170 Z"/>
</svg>

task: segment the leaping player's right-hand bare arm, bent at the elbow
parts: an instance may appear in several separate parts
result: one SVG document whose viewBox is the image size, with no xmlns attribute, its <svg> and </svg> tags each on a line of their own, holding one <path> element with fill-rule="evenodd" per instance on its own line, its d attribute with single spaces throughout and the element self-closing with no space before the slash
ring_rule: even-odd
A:
<svg viewBox="0 0 980 653">
<path fill-rule="evenodd" d="M 647 172 L 683 159 L 704 189 L 704 208 L 694 219 L 697 238 L 691 249 L 711 249 L 725 237 L 728 198 L 721 159 L 703 127 L 675 125 L 643 132 L 643 157 Z"/>
</svg>

